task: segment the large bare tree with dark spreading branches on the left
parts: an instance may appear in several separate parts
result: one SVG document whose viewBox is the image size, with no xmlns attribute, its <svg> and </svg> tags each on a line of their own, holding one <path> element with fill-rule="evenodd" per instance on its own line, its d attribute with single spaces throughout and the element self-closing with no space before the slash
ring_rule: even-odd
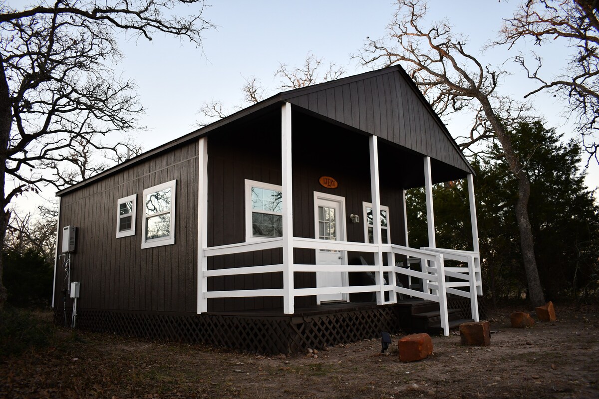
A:
<svg viewBox="0 0 599 399">
<path fill-rule="evenodd" d="M 188 17 L 174 8 L 195 6 Z M 47 173 L 77 145 L 112 151 L 95 141 L 138 128 L 143 112 L 135 84 L 114 73 L 123 57 L 116 35 L 152 39 L 156 33 L 201 45 L 212 25 L 202 0 L 38 0 L 22 10 L 0 5 L 0 240 L 7 206 L 26 190 L 66 183 Z M 10 188 L 8 187 L 10 182 Z M 1 284 L 0 307 L 6 292 Z"/>
</svg>

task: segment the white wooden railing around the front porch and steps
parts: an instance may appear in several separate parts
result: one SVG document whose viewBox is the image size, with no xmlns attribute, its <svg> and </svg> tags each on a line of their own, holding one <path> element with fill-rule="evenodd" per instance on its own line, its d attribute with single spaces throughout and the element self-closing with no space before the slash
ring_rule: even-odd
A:
<svg viewBox="0 0 599 399">
<path fill-rule="evenodd" d="M 261 242 L 237 243 L 204 248 L 204 258 L 220 255 L 246 254 L 255 251 L 283 248 L 283 237 L 263 240 Z M 270 264 L 265 266 L 229 267 L 218 270 L 204 270 L 202 278 L 214 278 L 222 276 L 254 275 L 261 273 L 289 273 L 293 276 L 296 272 L 311 273 L 367 273 L 373 276 L 374 284 L 370 285 L 340 285 L 337 287 L 294 287 L 293 278 L 283 278 L 282 288 L 259 289 L 259 290 L 226 290 L 207 291 L 198 294 L 198 303 L 207 307 L 207 301 L 211 298 L 235 298 L 235 297 L 283 297 L 283 303 L 287 305 L 282 310 L 259 310 L 255 316 L 265 317 L 269 312 L 282 312 L 289 315 L 297 315 L 306 309 L 295 309 L 294 303 L 297 297 L 320 296 L 326 294 L 356 294 L 373 293 L 376 302 L 373 306 L 388 306 L 397 304 L 405 299 L 422 299 L 438 303 L 440 312 L 440 327 L 444 335 L 449 335 L 448 294 L 449 296 L 467 299 L 470 303 L 469 319 L 479 321 L 478 297 L 482 295 L 482 284 L 480 274 L 479 254 L 472 251 L 456 251 L 440 248 L 409 248 L 394 244 L 368 244 L 356 242 L 342 242 L 331 240 L 318 240 L 294 237 L 291 240 L 291 249 L 311 249 L 313 251 L 339 251 L 350 252 L 354 256 L 373 254 L 375 260 L 380 258 L 379 264 Z M 284 250 L 284 248 L 283 248 Z M 346 257 L 347 258 L 347 257 Z M 364 257 L 361 257 L 362 260 Z M 446 261 L 453 261 L 455 266 L 445 266 Z M 416 284 L 414 284 L 416 283 Z M 207 287 L 207 284 L 200 287 Z M 375 305 L 376 304 L 376 305 Z M 335 306 L 339 309 L 354 306 L 349 300 L 337 304 L 327 303 L 323 309 L 330 312 Z M 311 307 L 310 312 L 317 312 L 318 307 Z M 224 314 L 224 313 L 222 313 Z M 245 312 L 244 314 L 253 314 Z M 359 321 L 356 321 L 359 324 Z M 360 327 L 356 325 L 356 328 Z"/>
</svg>

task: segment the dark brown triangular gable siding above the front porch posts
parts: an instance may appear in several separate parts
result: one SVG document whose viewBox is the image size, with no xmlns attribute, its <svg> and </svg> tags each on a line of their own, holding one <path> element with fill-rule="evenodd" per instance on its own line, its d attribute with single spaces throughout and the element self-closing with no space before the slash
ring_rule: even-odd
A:
<svg viewBox="0 0 599 399">
<path fill-rule="evenodd" d="M 409 77 L 398 68 L 282 93 L 283 99 L 469 172 L 468 165 Z M 321 88 L 321 89 L 319 89 Z"/>
</svg>

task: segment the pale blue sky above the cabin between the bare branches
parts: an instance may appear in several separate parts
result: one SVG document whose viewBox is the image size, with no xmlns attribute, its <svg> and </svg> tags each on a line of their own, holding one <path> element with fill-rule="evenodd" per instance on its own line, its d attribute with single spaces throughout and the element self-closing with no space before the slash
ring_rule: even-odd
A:
<svg viewBox="0 0 599 399">
<path fill-rule="evenodd" d="M 203 15 L 217 29 L 205 33 L 203 48 L 161 35 L 155 35 L 152 42 L 144 39 L 122 42 L 126 58 L 118 66 L 119 72 L 137 82 L 138 95 L 146 108 L 141 124 L 148 130 L 138 136 L 145 150 L 195 130 L 194 124 L 201 118 L 197 112 L 203 102 L 221 100 L 231 109 L 240 105 L 244 78 L 257 77 L 270 88 L 267 95 L 278 92 L 280 79 L 274 77 L 274 72 L 279 63 L 301 65 L 308 52 L 322 57 L 326 63 L 344 66 L 346 76 L 370 70 L 352 59 L 352 54 L 359 53 L 367 36 L 379 38 L 385 33 L 395 10 L 388 0 L 212 3 Z M 501 18 L 510 17 L 517 5 L 518 1 L 513 0 L 431 0 L 430 19 L 447 17 L 456 32 L 469 36 L 470 51 L 479 55 L 479 48 L 495 38 Z M 480 56 L 480 60 L 498 65 L 504 62 L 506 54 L 501 48 L 494 49 Z M 553 65 L 563 65 L 565 55 L 554 52 Z M 513 63 L 506 63 L 506 68 L 515 75 L 504 80 L 501 92 L 520 100 L 525 90 L 533 86 Z M 570 126 L 559 115 L 561 105 L 554 101 L 550 96 L 533 99 L 538 114 L 546 119 L 546 126 L 570 132 Z M 449 121 L 448 128 L 452 135 L 458 136 L 468 126 L 456 119 Z M 591 174 L 587 184 L 595 188 L 599 186 L 599 167 L 593 166 Z"/>
</svg>

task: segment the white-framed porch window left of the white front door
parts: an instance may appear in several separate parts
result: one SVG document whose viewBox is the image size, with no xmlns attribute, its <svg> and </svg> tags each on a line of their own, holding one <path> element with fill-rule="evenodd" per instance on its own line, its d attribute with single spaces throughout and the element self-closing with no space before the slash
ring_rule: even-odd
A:
<svg viewBox="0 0 599 399">
<path fill-rule="evenodd" d="M 246 180 L 246 241 L 282 236 L 281 186 Z"/>
</svg>

